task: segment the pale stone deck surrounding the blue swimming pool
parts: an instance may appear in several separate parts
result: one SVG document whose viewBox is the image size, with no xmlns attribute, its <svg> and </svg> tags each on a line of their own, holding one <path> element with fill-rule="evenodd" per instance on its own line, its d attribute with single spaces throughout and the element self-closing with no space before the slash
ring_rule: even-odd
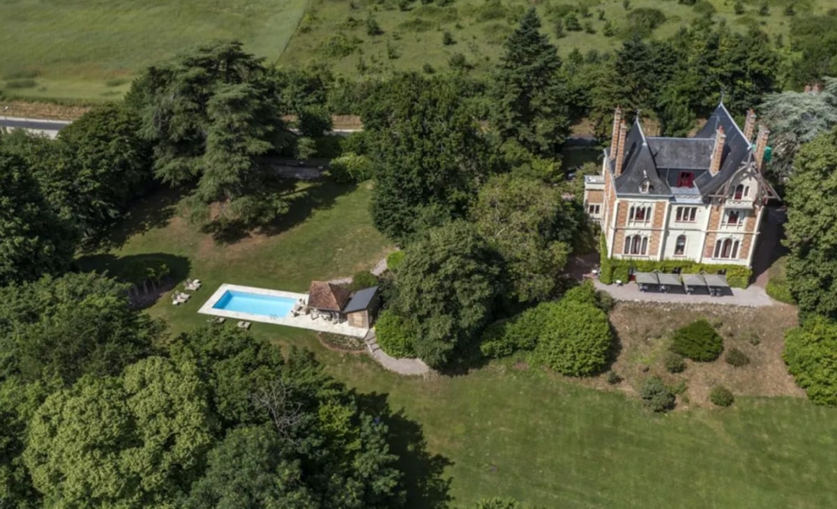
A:
<svg viewBox="0 0 837 509">
<path fill-rule="evenodd" d="M 352 336 L 352 337 L 365 337 L 367 335 L 368 329 L 363 329 L 359 327 L 350 327 L 345 322 L 343 323 L 333 323 L 331 321 L 326 321 L 324 318 L 312 318 L 311 315 L 297 315 L 292 316 L 290 313 L 288 316 L 264 316 L 264 315 L 254 315 L 252 313 L 243 313 L 240 311 L 227 311 L 223 309 L 214 309 L 213 306 L 216 302 L 218 302 L 224 293 L 227 290 L 234 290 L 234 291 L 244 291 L 248 293 L 254 293 L 264 296 L 275 296 L 275 297 L 289 297 L 291 299 L 302 301 L 308 301 L 308 294 L 305 293 L 294 293 L 290 291 L 283 291 L 283 290 L 268 290 L 267 288 L 256 288 L 254 286 L 242 286 L 242 285 L 229 285 L 228 283 L 224 283 L 223 285 L 218 286 L 218 290 L 209 297 L 209 299 L 203 303 L 203 306 L 198 310 L 198 313 L 203 315 L 213 315 L 213 316 L 223 316 L 224 318 L 232 318 L 234 320 L 244 320 L 244 321 L 258 321 L 259 323 L 272 323 L 273 325 L 284 325 L 289 327 L 298 327 L 300 329 L 309 329 L 311 331 L 318 331 L 318 332 L 331 332 L 333 334 L 342 334 L 344 336 Z"/>
</svg>

